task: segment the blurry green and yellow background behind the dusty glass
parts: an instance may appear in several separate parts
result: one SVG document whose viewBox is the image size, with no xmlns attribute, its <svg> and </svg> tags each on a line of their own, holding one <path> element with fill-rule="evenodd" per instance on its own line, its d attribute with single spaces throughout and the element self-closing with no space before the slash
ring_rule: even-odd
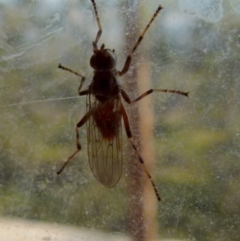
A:
<svg viewBox="0 0 240 241">
<path fill-rule="evenodd" d="M 138 0 L 132 8 L 123 0 L 96 2 L 100 44 L 115 49 L 118 69 L 128 54 L 126 19 L 139 9 L 141 30 L 161 4 L 138 53 L 149 53 L 153 88 L 190 91 L 189 99 L 152 95 L 151 173 L 164 199 L 160 237 L 239 240 L 240 2 Z M 90 1 L 0 0 L 1 216 L 127 232 L 126 165 L 115 188 L 99 184 L 88 165 L 85 127 L 82 152 L 55 174 L 76 148 L 75 124 L 86 107 L 77 97 L 79 78 L 57 66 L 91 79 L 96 32 Z M 144 55 L 133 61 L 140 66 Z"/>
</svg>

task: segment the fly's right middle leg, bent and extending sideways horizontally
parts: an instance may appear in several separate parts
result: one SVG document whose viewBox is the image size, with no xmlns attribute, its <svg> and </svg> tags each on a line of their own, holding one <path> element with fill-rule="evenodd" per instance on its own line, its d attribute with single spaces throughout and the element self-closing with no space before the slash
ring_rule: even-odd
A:
<svg viewBox="0 0 240 241">
<path fill-rule="evenodd" d="M 189 92 L 183 92 L 183 91 L 180 91 L 180 90 L 150 89 L 150 90 L 144 92 L 143 94 L 141 94 L 138 98 L 136 98 L 134 100 L 130 100 L 130 97 L 129 97 L 128 93 L 123 89 L 121 90 L 122 97 L 128 104 L 135 103 L 135 102 L 141 100 L 142 98 L 152 94 L 153 92 L 168 92 L 168 93 L 184 95 L 184 96 L 187 96 L 187 97 L 188 97 L 188 94 L 189 94 Z"/>
</svg>

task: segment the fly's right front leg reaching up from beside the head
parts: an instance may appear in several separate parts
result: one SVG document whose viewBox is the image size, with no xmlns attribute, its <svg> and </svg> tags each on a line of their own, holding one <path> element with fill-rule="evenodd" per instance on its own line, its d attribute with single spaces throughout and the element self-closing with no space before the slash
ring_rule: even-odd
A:
<svg viewBox="0 0 240 241">
<path fill-rule="evenodd" d="M 123 69 L 121 71 L 118 71 L 119 76 L 122 76 L 122 75 L 127 73 L 128 69 L 130 67 L 131 61 L 132 61 L 133 53 L 136 51 L 137 47 L 142 42 L 145 33 L 147 32 L 147 30 L 149 29 L 149 27 L 151 26 L 152 22 L 154 21 L 154 19 L 158 15 L 158 13 L 161 11 L 161 9 L 163 9 L 163 7 L 161 5 L 159 5 L 159 7 L 157 8 L 156 12 L 153 14 L 151 20 L 149 21 L 148 25 L 145 27 L 145 29 L 143 30 L 142 34 L 138 38 L 138 40 L 137 40 L 136 44 L 134 45 L 131 53 L 128 55 L 128 57 L 127 57 L 127 59 L 126 59 L 126 61 L 124 63 Z"/>
</svg>

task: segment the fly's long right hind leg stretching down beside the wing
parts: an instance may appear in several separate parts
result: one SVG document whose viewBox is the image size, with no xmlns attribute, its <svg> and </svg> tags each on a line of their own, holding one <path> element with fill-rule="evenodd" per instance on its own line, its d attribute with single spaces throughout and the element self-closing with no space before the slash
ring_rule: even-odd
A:
<svg viewBox="0 0 240 241">
<path fill-rule="evenodd" d="M 133 147 L 133 149 L 135 150 L 136 154 L 137 154 L 137 157 L 138 157 L 138 160 L 139 162 L 141 163 L 141 166 L 142 166 L 142 169 L 143 171 L 145 172 L 145 174 L 147 175 L 147 177 L 149 178 L 149 180 L 151 181 L 151 184 L 152 184 L 152 187 L 154 189 L 154 192 L 156 194 L 156 197 L 158 199 L 158 201 L 161 201 L 161 197 L 158 193 L 158 190 L 157 190 L 157 186 L 156 184 L 154 183 L 153 179 L 152 179 L 152 176 L 150 175 L 150 173 L 148 172 L 145 164 L 144 164 L 144 160 L 142 158 L 142 156 L 140 155 L 139 151 L 137 150 L 137 147 L 135 146 L 135 144 L 133 143 L 133 140 L 132 140 L 132 132 L 131 132 L 131 129 L 130 129 L 130 124 L 129 124 L 129 120 L 128 120 L 128 116 L 127 116 L 127 113 L 126 113 L 126 110 L 123 106 L 123 104 L 121 103 L 121 113 L 122 113 L 122 116 L 123 116 L 123 122 L 124 122 L 124 127 L 125 127 L 125 130 L 126 130 L 126 134 L 127 134 L 127 137 Z"/>
</svg>

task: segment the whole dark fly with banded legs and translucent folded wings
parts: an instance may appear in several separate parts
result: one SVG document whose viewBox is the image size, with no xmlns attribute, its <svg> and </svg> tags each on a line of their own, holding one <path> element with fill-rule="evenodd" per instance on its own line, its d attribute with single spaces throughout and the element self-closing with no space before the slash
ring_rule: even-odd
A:
<svg viewBox="0 0 240 241">
<path fill-rule="evenodd" d="M 105 48 L 102 44 L 98 48 L 98 42 L 102 35 L 102 27 L 95 0 L 91 0 L 98 24 L 98 32 L 92 43 L 93 55 L 90 58 L 90 65 L 93 68 L 93 78 L 86 89 L 82 90 L 85 77 L 67 67 L 59 64 L 59 68 L 71 72 L 81 78 L 78 88 L 80 96 L 86 96 L 86 114 L 76 125 L 76 145 L 77 150 L 62 165 L 57 174 L 59 175 L 66 165 L 81 151 L 79 128 L 87 125 L 88 159 L 91 170 L 96 179 L 106 187 L 115 186 L 122 173 L 122 120 L 129 142 L 134 149 L 139 162 L 151 181 L 152 187 L 158 201 L 161 200 L 156 184 L 148 172 L 144 160 L 133 142 L 132 132 L 126 110 L 122 99 L 127 104 L 133 104 L 153 92 L 170 92 L 188 96 L 188 92 L 167 89 L 150 89 L 141 94 L 138 98 L 131 100 L 128 93 L 121 87 L 119 77 L 126 74 L 129 70 L 132 55 L 143 40 L 143 37 L 150 25 L 163 9 L 161 5 L 157 8 L 151 20 L 136 41 L 132 51 L 127 56 L 122 70 L 116 69 L 116 56 L 114 50 Z"/>
</svg>

